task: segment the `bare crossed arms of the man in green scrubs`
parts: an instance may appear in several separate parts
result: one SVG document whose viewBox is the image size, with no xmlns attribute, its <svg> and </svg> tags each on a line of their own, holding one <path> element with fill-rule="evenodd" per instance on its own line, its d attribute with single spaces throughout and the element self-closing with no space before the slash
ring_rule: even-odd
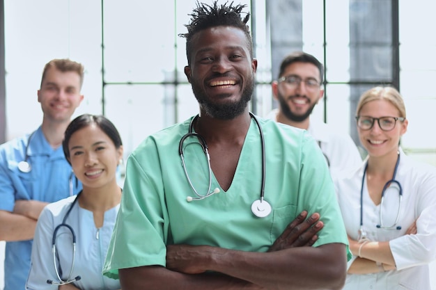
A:
<svg viewBox="0 0 436 290">
<path fill-rule="evenodd" d="M 208 245 L 169 245 L 166 268 L 119 269 L 130 289 L 341 289 L 345 245 L 313 248 L 323 224 L 319 214 L 299 214 L 267 252 L 243 252 Z"/>
</svg>

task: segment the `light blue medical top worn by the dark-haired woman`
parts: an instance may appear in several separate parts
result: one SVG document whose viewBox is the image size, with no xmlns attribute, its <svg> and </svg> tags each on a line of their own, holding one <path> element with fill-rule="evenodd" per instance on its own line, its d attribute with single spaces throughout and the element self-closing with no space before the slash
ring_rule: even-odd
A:
<svg viewBox="0 0 436 290">
<path fill-rule="evenodd" d="M 65 198 L 59 202 L 48 204 L 42 210 L 33 239 L 31 270 L 26 283 L 26 289 L 58 289 L 57 285 L 47 284 L 47 280 L 59 282 L 54 271 L 52 255 L 52 238 L 54 229 L 60 225 L 63 218 L 75 200 L 76 196 Z M 119 280 L 113 280 L 102 275 L 102 266 L 107 248 L 114 229 L 116 215 L 120 205 L 104 213 L 104 223 L 95 227 L 93 212 L 79 207 L 76 202 L 65 223 L 74 229 L 76 235 L 75 266 L 72 278 L 77 275 L 81 280 L 73 282 L 79 289 L 114 290 L 120 289 Z M 66 227 L 61 227 L 56 235 L 56 263 L 61 266 L 61 278 L 66 279 L 72 262 L 72 234 Z"/>
</svg>

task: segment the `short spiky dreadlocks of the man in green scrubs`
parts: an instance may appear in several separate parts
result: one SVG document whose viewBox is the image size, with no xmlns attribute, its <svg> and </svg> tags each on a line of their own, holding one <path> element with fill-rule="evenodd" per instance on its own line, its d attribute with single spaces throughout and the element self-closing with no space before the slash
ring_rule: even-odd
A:
<svg viewBox="0 0 436 290">
<path fill-rule="evenodd" d="M 215 26 L 233 26 L 244 31 L 245 35 L 247 35 L 249 53 L 253 58 L 253 40 L 247 25 L 250 13 L 245 13 L 245 17 L 241 15 L 242 9 L 246 8 L 247 5 L 233 5 L 233 1 L 230 4 L 226 1 L 226 3 L 219 6 L 217 0 L 213 1 L 212 6 L 198 1 L 196 4 L 197 8 L 192 11 L 192 14 L 189 14 L 191 22 L 185 25 L 188 32 L 179 34 L 180 37 L 186 38 L 188 64 L 191 63 L 189 52 L 192 50 L 192 37 L 198 31 Z"/>
</svg>

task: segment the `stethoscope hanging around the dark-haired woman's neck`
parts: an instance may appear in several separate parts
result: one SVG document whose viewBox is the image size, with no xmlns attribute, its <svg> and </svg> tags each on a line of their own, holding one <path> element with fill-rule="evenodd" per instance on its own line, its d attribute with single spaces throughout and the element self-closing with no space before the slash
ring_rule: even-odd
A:
<svg viewBox="0 0 436 290">
<path fill-rule="evenodd" d="M 77 194 L 75 200 L 70 205 L 70 208 L 68 209 L 67 213 L 63 217 L 62 223 L 57 225 L 54 228 L 53 238 L 52 238 L 52 254 L 53 254 L 54 271 L 56 271 L 56 276 L 58 278 L 58 281 L 55 282 L 53 280 L 47 280 L 47 284 L 53 284 L 53 285 L 59 285 L 60 286 L 60 285 L 70 284 L 72 282 L 79 281 L 81 279 L 80 276 L 76 276 L 73 279 L 71 279 L 72 271 L 74 270 L 74 266 L 75 266 L 76 234 L 75 234 L 74 229 L 72 229 L 72 227 L 66 223 L 66 220 L 67 220 L 68 216 L 70 216 L 70 212 L 71 212 L 72 208 L 75 206 L 77 200 L 79 199 L 80 193 Z M 67 228 L 71 232 L 71 235 L 72 235 L 72 260 L 71 260 L 71 268 L 70 268 L 70 273 L 68 273 L 68 276 L 67 276 L 67 278 L 65 280 L 61 278 L 61 275 L 59 274 L 59 270 L 58 270 L 58 263 L 56 263 L 56 234 L 58 233 L 59 229 L 61 229 L 63 227 Z"/>
</svg>

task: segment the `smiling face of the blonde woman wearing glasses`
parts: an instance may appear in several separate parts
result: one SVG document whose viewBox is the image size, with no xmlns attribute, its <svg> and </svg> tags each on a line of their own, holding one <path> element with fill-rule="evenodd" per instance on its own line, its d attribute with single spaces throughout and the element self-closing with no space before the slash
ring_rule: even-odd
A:
<svg viewBox="0 0 436 290">
<path fill-rule="evenodd" d="M 400 111 L 389 101 L 383 99 L 367 102 L 359 111 L 359 116 L 372 118 L 401 117 Z M 396 155 L 400 137 L 407 131 L 407 119 L 403 122 L 396 121 L 394 129 L 383 131 L 375 120 L 373 127 L 363 130 L 357 127 L 361 145 L 370 156 Z"/>
</svg>

